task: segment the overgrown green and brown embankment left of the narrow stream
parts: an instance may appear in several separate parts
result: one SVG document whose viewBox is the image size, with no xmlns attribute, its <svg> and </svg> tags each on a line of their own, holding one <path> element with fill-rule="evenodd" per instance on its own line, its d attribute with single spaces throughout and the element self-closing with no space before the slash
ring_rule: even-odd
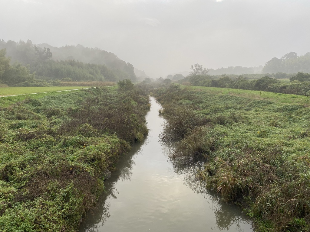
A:
<svg viewBox="0 0 310 232">
<path fill-rule="evenodd" d="M 1 231 L 75 231 L 148 133 L 149 99 L 135 88 L 5 97 L 0 109 Z"/>
</svg>

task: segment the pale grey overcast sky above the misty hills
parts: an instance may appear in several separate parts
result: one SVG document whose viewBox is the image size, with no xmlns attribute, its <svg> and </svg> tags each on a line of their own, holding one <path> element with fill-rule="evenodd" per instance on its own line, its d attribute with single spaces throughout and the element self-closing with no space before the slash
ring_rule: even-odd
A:
<svg viewBox="0 0 310 232">
<path fill-rule="evenodd" d="M 98 47 L 157 78 L 310 52 L 309 0 L 0 0 L 0 39 Z"/>
</svg>

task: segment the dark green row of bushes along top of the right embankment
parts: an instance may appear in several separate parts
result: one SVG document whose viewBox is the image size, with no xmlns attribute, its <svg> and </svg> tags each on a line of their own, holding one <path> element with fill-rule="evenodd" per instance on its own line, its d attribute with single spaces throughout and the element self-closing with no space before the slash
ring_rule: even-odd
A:
<svg viewBox="0 0 310 232">
<path fill-rule="evenodd" d="M 214 79 L 214 76 L 210 75 L 192 75 L 180 80 L 179 83 L 195 86 L 261 90 L 310 96 L 310 74 L 303 72 L 298 72 L 291 77 L 290 83 L 268 76 L 260 79 L 246 80 L 242 75 L 236 75 L 234 77 L 223 75 L 219 79 Z"/>
</svg>

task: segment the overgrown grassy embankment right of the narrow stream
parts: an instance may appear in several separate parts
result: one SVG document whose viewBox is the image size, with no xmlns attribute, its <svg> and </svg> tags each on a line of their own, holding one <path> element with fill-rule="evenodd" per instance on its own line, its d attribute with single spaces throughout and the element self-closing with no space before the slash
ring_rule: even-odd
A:
<svg viewBox="0 0 310 232">
<path fill-rule="evenodd" d="M 171 85 L 153 90 L 174 161 L 203 163 L 206 188 L 242 204 L 258 231 L 308 231 L 309 98 Z"/>
</svg>

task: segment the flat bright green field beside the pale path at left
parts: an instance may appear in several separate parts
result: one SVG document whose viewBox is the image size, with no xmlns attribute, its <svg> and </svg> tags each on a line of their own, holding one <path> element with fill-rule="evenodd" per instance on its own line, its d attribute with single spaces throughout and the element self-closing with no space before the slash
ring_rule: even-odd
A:
<svg viewBox="0 0 310 232">
<path fill-rule="evenodd" d="M 53 92 L 71 89 L 89 88 L 87 86 L 51 86 L 51 87 L 0 87 L 0 97 L 39 92 Z"/>
</svg>

